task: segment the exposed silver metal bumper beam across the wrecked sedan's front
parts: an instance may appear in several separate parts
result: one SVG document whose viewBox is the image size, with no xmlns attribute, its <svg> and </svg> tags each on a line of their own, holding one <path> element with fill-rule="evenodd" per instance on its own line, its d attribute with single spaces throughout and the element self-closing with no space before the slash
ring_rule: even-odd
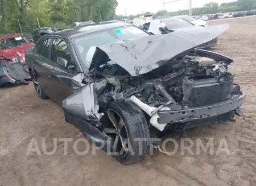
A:
<svg viewBox="0 0 256 186">
<path fill-rule="evenodd" d="M 184 123 L 187 121 L 214 117 L 240 108 L 240 106 L 245 103 L 245 100 L 246 94 L 242 94 L 241 96 L 236 95 L 236 97 L 233 97 L 230 100 L 219 102 L 217 104 L 183 110 L 158 111 L 158 123 Z"/>
</svg>

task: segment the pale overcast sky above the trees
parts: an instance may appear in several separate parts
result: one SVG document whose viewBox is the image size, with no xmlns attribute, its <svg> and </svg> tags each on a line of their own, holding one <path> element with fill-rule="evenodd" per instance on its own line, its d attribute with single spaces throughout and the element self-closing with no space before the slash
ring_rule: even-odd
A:
<svg viewBox="0 0 256 186">
<path fill-rule="evenodd" d="M 150 11 L 152 13 L 156 13 L 159 10 L 163 10 L 163 0 L 117 0 L 118 7 L 115 11 L 117 15 L 136 15 L 139 13 L 146 13 L 146 11 Z M 170 2 L 173 0 L 164 0 L 164 2 Z M 192 0 L 192 7 L 202 7 L 205 3 L 209 2 L 232 2 L 236 0 Z M 164 5 L 167 11 L 177 11 L 184 10 L 189 8 L 189 0 L 180 0 L 173 3 L 167 3 Z"/>
</svg>

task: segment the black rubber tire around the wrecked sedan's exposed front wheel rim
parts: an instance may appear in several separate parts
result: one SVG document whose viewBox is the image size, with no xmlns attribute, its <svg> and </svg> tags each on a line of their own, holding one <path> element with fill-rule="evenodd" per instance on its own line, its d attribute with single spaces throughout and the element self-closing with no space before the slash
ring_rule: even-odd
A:
<svg viewBox="0 0 256 186">
<path fill-rule="evenodd" d="M 112 155 L 113 158 L 125 165 L 138 162 L 146 154 L 150 145 L 150 133 L 148 129 L 148 123 L 141 109 L 134 108 L 133 106 L 126 104 L 125 102 L 110 102 L 106 110 L 112 110 L 113 113 L 117 113 L 118 117 L 121 117 L 121 119 L 123 119 L 125 130 L 127 131 L 127 139 L 129 140 L 129 146 L 127 147 L 129 150 L 127 150 L 126 155 Z M 109 117 L 107 112 L 105 116 Z M 123 133 L 121 133 L 120 135 L 122 134 Z M 132 151 L 130 150 L 131 148 Z"/>
</svg>

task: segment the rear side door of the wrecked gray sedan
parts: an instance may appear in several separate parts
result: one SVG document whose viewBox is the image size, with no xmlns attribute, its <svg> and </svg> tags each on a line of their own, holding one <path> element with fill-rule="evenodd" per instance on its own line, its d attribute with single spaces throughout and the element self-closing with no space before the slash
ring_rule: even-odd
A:
<svg viewBox="0 0 256 186">
<path fill-rule="evenodd" d="M 51 38 L 41 40 L 35 46 L 35 55 L 32 58 L 32 76 L 38 80 L 41 88 L 46 92 L 48 82 L 48 62 Z M 46 92 L 47 94 L 47 92 Z"/>
</svg>

